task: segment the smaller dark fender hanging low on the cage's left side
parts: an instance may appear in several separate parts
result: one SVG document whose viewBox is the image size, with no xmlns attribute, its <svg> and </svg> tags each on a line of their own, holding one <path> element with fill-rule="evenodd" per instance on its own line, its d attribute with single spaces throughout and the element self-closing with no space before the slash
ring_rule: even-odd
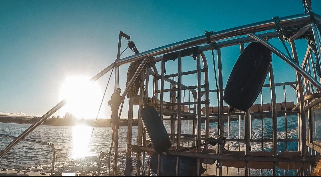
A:
<svg viewBox="0 0 321 177">
<path fill-rule="evenodd" d="M 155 151 L 159 154 L 168 152 L 172 143 L 156 109 L 153 106 L 144 107 L 141 117 Z"/>
</svg>

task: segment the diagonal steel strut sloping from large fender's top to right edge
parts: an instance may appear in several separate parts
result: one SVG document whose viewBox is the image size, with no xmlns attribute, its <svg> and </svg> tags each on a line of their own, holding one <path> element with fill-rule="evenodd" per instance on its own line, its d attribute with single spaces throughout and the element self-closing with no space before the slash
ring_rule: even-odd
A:
<svg viewBox="0 0 321 177">
<path fill-rule="evenodd" d="M 282 53 L 280 50 L 275 48 L 270 43 L 257 37 L 256 34 L 248 33 L 247 35 L 253 37 L 253 39 L 256 39 L 257 42 L 260 42 L 263 45 L 265 45 L 273 53 L 275 53 L 277 56 L 279 56 L 281 59 L 283 59 L 286 63 L 288 63 L 291 67 L 293 67 L 298 73 L 300 73 L 303 77 L 305 77 L 308 81 L 310 81 L 317 89 L 321 90 L 321 84 L 319 82 L 317 82 L 310 74 L 308 74 L 306 71 L 304 71 L 304 69 L 301 68 L 297 63 L 295 63 L 291 58 L 286 56 L 284 53 Z"/>
</svg>

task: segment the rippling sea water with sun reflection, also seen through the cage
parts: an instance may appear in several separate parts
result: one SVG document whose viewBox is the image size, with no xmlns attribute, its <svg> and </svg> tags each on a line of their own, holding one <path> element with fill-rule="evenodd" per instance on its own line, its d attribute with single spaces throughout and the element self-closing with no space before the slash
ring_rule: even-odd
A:
<svg viewBox="0 0 321 177">
<path fill-rule="evenodd" d="M 165 127 L 169 131 L 169 125 L 167 122 Z M 190 121 L 182 122 L 182 134 L 191 134 L 192 128 L 188 123 Z M 261 139 L 261 119 L 252 120 L 252 139 Z M 26 124 L 12 124 L 12 123 L 0 123 L 0 133 L 6 135 L 17 136 L 21 134 L 30 125 Z M 202 126 L 204 129 L 204 125 Z M 224 124 L 225 136 L 230 139 L 239 138 L 239 121 L 230 122 L 230 135 L 228 135 L 228 123 Z M 244 121 L 241 120 L 241 132 L 240 137 L 244 138 Z M 78 125 L 74 127 L 66 126 L 39 126 L 30 135 L 28 139 L 52 142 L 55 145 L 57 153 L 57 165 L 58 167 L 64 167 L 66 172 L 77 172 L 82 168 L 82 162 L 84 155 L 87 154 L 85 165 L 83 170 L 96 171 L 98 167 L 98 156 L 100 151 L 109 151 L 111 143 L 111 127 L 95 127 L 94 133 L 91 139 L 89 149 L 87 151 L 88 142 L 90 139 L 92 127 Z M 203 131 L 204 133 L 204 131 Z M 278 138 L 285 139 L 285 118 L 278 117 Z M 126 136 L 127 127 L 119 127 L 119 154 L 126 156 Z M 137 127 L 133 127 L 132 144 L 136 144 Z M 210 136 L 217 137 L 217 123 L 210 124 Z M 264 119 L 263 126 L 263 138 L 272 139 L 272 118 Z M 298 116 L 287 116 L 287 138 L 298 138 Z M 12 140 L 1 137 L 0 150 L 6 147 Z M 184 145 L 186 145 L 185 143 Z M 189 143 L 191 146 L 191 143 Z M 216 147 L 210 147 L 211 149 Z M 244 143 L 229 142 L 225 146 L 229 150 L 245 150 Z M 298 142 L 288 142 L 287 151 L 298 150 Z M 252 142 L 251 151 L 261 151 L 261 142 Z M 263 151 L 272 151 L 272 142 L 265 142 L 263 144 Z M 285 151 L 285 142 L 278 143 L 278 151 Z M 135 153 L 132 153 L 132 157 L 136 157 Z M 147 161 L 148 155 L 145 158 L 145 167 L 148 169 Z M 28 168 L 32 170 L 39 170 L 44 172 L 50 172 L 52 161 L 51 148 L 46 145 L 35 144 L 31 142 L 19 142 L 12 150 L 10 150 L 3 158 L 0 159 L 0 167 L 2 168 Z M 125 168 L 125 161 L 119 160 L 118 167 Z M 56 167 L 55 167 L 56 168 Z M 210 168 L 210 167 L 209 167 Z M 101 171 L 108 171 L 108 158 L 102 160 Z M 134 170 L 135 171 L 135 170 Z M 231 169 L 229 169 L 231 173 Z M 283 175 L 284 171 L 279 170 L 279 175 Z M 278 174 L 277 173 L 277 174 Z M 224 174 L 224 173 L 223 173 Z M 241 174 L 241 173 L 240 173 Z M 259 171 L 252 169 L 251 175 L 259 174 Z M 296 175 L 294 170 L 286 170 L 287 175 Z M 230 175 L 230 174 L 229 174 Z M 270 170 L 265 170 L 262 175 L 271 175 Z"/>
</svg>

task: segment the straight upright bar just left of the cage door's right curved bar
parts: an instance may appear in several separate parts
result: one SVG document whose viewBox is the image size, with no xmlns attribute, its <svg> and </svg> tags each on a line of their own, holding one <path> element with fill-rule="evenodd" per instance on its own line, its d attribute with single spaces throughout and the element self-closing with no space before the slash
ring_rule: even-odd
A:
<svg viewBox="0 0 321 177">
<path fill-rule="evenodd" d="M 197 65 L 197 145 L 201 144 L 202 134 L 202 95 L 201 95 L 201 56 L 196 57 Z M 201 152 L 201 147 L 197 147 L 197 152 Z"/>
</svg>

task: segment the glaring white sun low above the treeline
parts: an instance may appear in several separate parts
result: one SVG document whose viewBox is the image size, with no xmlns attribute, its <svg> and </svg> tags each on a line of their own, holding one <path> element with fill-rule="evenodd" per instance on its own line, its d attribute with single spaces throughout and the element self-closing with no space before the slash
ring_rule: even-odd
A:
<svg viewBox="0 0 321 177">
<path fill-rule="evenodd" d="M 60 99 L 67 101 L 64 110 L 77 119 L 95 119 L 102 95 L 99 84 L 86 76 L 67 77 L 59 93 Z"/>
</svg>

